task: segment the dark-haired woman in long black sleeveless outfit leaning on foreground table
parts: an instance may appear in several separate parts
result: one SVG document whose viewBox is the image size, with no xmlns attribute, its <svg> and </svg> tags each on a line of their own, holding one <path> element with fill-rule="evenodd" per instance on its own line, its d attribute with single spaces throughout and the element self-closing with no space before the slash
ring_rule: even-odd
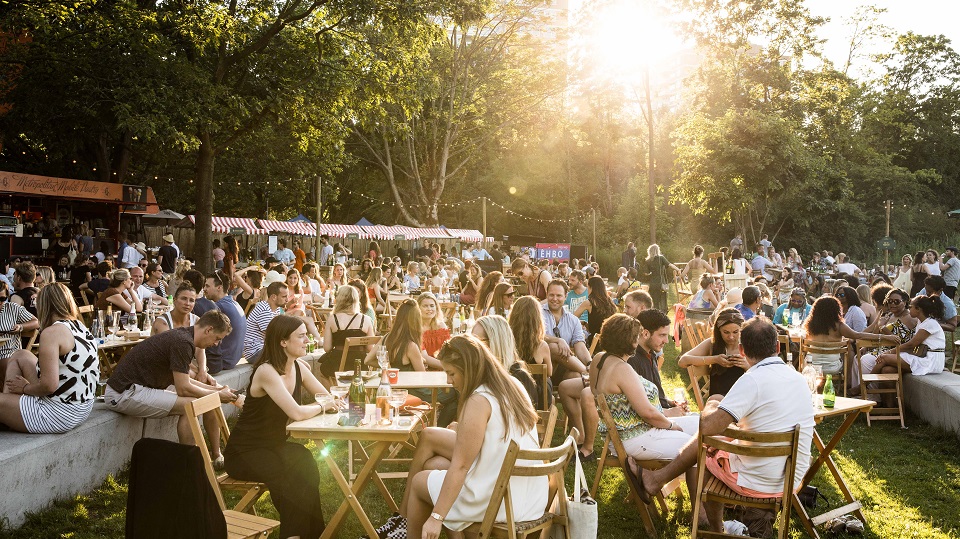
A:
<svg viewBox="0 0 960 539">
<path fill-rule="evenodd" d="M 307 328 L 302 320 L 281 314 L 270 321 L 263 353 L 253 366 L 247 395 L 237 403 L 242 411 L 223 453 L 230 477 L 265 483 L 270 489 L 280 513 L 280 537 L 316 539 L 324 529 L 317 462 L 303 444 L 287 441 L 289 421 L 329 411 L 314 404 L 314 395 L 326 395 L 327 390 L 297 359 L 306 353 Z"/>
</svg>

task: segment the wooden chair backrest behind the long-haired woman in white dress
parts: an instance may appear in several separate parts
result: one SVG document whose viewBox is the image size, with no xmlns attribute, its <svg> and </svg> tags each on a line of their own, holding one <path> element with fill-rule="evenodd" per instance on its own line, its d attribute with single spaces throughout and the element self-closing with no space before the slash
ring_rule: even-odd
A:
<svg viewBox="0 0 960 539">
<path fill-rule="evenodd" d="M 547 498 L 547 506 L 544 510 L 550 510 L 554 500 L 556 500 L 553 513 L 565 520 L 567 492 L 563 476 L 571 455 L 577 449 L 574 436 L 576 436 L 575 432 L 567 436 L 567 439 L 559 446 L 547 449 L 520 449 L 517 442 L 510 441 L 507 454 L 503 457 L 503 464 L 500 466 L 500 475 L 497 476 L 493 486 L 490 503 L 487 505 L 483 520 L 480 523 L 479 537 L 482 539 L 490 537 L 490 532 L 501 506 L 506 509 L 507 530 L 516 529 L 516 521 L 513 520 L 513 499 L 508 488 L 511 477 L 548 477 L 552 483 L 551 487 L 556 485 L 556 491 Z M 528 462 L 519 463 L 518 461 Z M 551 488 L 551 491 L 553 491 L 553 488 Z"/>
</svg>

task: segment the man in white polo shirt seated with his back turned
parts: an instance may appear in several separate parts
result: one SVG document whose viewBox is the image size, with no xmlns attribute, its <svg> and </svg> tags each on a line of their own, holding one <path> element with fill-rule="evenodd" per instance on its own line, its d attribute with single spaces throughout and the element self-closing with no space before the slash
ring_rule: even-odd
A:
<svg viewBox="0 0 960 539">
<path fill-rule="evenodd" d="M 704 406 L 700 425 L 705 434 L 720 434 L 736 424 L 754 432 L 787 432 L 800 425 L 800 444 L 794 489 L 800 488 L 810 467 L 813 440 L 813 404 L 810 390 L 797 371 L 778 356 L 777 330 L 763 318 L 753 318 L 740 331 L 740 353 L 750 368 L 726 396 L 714 395 Z M 641 487 L 647 496 L 697 463 L 698 437 L 693 437 L 670 464 L 659 470 L 641 470 Z M 707 472 L 734 492 L 772 498 L 783 494 L 784 457 L 740 457 L 726 451 L 707 455 Z M 641 496 L 641 497 L 647 497 Z M 646 500 L 645 500 L 646 501 Z M 723 505 L 704 504 L 710 528 L 723 531 Z M 696 525 L 696 523 L 694 523 Z"/>
</svg>

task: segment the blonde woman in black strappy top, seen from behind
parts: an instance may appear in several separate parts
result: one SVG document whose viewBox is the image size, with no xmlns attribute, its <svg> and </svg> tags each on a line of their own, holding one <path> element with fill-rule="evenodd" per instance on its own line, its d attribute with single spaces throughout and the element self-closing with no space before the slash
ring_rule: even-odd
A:
<svg viewBox="0 0 960 539">
<path fill-rule="evenodd" d="M 335 382 L 347 337 L 372 336 L 373 324 L 360 313 L 360 292 L 352 286 L 341 286 L 337 290 L 333 312 L 327 316 L 327 323 L 323 327 L 324 354 L 317 360 L 316 368 L 324 386 L 330 387 Z M 347 357 L 347 365 L 366 357 L 371 348 L 351 349 Z"/>
</svg>

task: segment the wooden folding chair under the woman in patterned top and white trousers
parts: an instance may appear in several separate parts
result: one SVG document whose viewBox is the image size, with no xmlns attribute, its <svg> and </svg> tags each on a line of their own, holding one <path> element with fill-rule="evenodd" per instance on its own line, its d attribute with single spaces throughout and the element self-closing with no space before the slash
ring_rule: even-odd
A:
<svg viewBox="0 0 960 539">
<path fill-rule="evenodd" d="M 607 437 L 603 441 L 603 450 L 600 452 L 600 457 L 597 459 L 597 473 L 593 478 L 593 486 L 590 489 L 590 496 L 595 497 L 597 495 L 597 489 L 600 487 L 600 479 L 603 475 L 603 470 L 609 467 L 620 468 L 624 470 L 624 475 L 626 475 L 627 470 L 627 459 L 630 456 L 627 454 L 627 450 L 623 448 L 623 441 L 620 439 L 620 433 L 617 432 L 617 425 L 613 421 L 613 414 L 610 413 L 610 408 L 607 406 L 607 399 L 601 393 L 597 395 L 597 411 L 600 412 L 600 421 L 607 429 Z M 616 455 L 610 455 L 610 446 L 613 445 L 613 450 L 616 452 Z M 637 466 L 640 468 L 646 468 L 648 470 L 658 470 L 663 468 L 670 463 L 670 460 L 638 460 Z M 637 506 L 637 511 L 640 513 L 640 520 L 643 522 L 643 527 L 647 531 L 647 535 L 656 539 L 657 529 L 653 525 L 653 517 L 650 512 L 651 509 L 658 511 L 657 505 L 659 505 L 659 511 L 663 514 L 667 512 L 667 502 L 664 499 L 664 496 L 669 496 L 673 492 L 676 492 L 679 497 L 683 497 L 683 492 L 679 490 L 680 483 L 683 482 L 683 475 L 673 479 L 669 483 L 663 486 L 660 492 L 656 496 L 656 504 L 647 505 L 643 503 L 643 500 L 640 499 L 640 496 L 637 494 L 636 490 L 633 488 L 633 483 L 630 481 L 625 481 L 627 487 L 629 488 L 629 497 L 632 499 L 634 505 Z M 651 507 L 652 506 L 652 507 Z"/>
</svg>

